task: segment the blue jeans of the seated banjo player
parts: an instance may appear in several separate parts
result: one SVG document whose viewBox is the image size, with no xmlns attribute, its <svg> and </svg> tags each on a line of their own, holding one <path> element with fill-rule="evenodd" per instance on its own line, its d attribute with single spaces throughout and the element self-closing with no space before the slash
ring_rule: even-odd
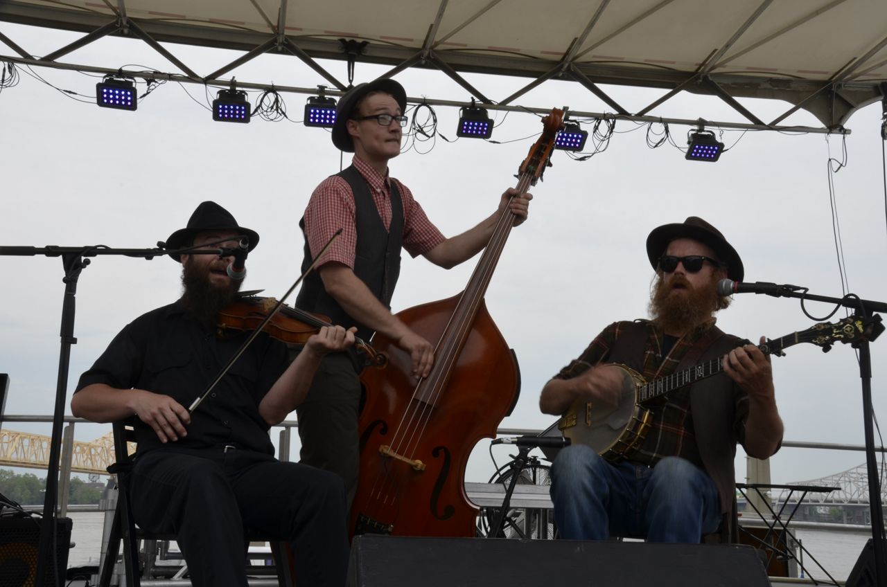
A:
<svg viewBox="0 0 887 587">
<path fill-rule="evenodd" d="M 698 543 L 721 521 L 714 481 L 677 457 L 653 468 L 611 465 L 587 446 L 569 446 L 554 460 L 551 496 L 563 538 Z"/>
</svg>

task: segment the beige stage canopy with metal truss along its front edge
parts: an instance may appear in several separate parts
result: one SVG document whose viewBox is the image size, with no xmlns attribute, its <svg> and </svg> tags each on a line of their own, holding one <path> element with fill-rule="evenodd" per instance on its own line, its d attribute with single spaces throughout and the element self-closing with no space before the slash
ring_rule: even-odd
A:
<svg viewBox="0 0 887 587">
<path fill-rule="evenodd" d="M 82 32 L 77 43 L 33 56 L 0 26 L 0 59 L 70 67 L 71 51 L 106 35 L 138 38 L 191 81 L 222 82 L 267 52 L 309 63 L 332 90 L 347 79 L 317 59 L 434 68 L 478 101 L 515 101 L 539 83 L 569 80 L 608 105 L 642 117 L 680 91 L 733 106 L 742 125 L 781 125 L 799 108 L 823 129 L 840 129 L 860 106 L 883 96 L 887 2 L 883 0 L 4 0 L 0 21 Z M 176 56 L 186 43 L 243 51 L 214 72 L 192 71 Z M 109 56 L 113 59 L 112 56 Z M 106 64 L 114 71 L 118 64 Z M 510 95 L 484 95 L 466 73 L 527 79 Z M 601 85 L 663 90 L 629 112 Z M 333 92 L 335 93 L 335 92 Z M 794 105 L 761 120 L 736 98 Z"/>
</svg>

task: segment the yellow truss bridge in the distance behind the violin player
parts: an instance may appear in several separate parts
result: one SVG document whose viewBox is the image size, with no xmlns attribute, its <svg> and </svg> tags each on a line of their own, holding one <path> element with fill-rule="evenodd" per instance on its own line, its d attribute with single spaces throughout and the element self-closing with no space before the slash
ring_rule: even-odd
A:
<svg viewBox="0 0 887 587">
<path fill-rule="evenodd" d="M 0 466 L 23 466 L 46 469 L 50 458 L 50 436 L 0 429 Z M 135 449 L 130 445 L 130 452 Z M 114 438 L 105 434 L 92 442 L 74 442 L 71 471 L 75 473 L 108 474 L 106 467 L 114 463 Z"/>
</svg>

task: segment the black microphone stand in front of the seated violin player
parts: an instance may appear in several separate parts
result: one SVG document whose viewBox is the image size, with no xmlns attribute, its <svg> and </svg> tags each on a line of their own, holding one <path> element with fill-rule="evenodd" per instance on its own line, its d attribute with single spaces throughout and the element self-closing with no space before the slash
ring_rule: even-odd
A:
<svg viewBox="0 0 887 587">
<path fill-rule="evenodd" d="M 161 243 L 158 243 L 161 245 Z M 43 523 L 40 528 L 40 544 L 37 551 L 37 585 L 57 584 L 59 580 L 56 548 L 56 505 L 59 491 L 59 452 L 61 450 L 61 434 L 65 419 L 65 400 L 67 396 L 67 375 L 71 362 L 71 345 L 77 343 L 74 336 L 74 318 L 76 307 L 77 281 L 81 271 L 90 264 L 84 257 L 99 254 L 115 254 L 128 257 L 141 257 L 146 261 L 164 254 L 222 254 L 222 249 L 191 250 L 192 247 L 169 251 L 164 248 L 109 248 L 104 246 L 90 247 L 0 247 L 0 256 L 46 256 L 61 257 L 65 277 L 65 297 L 61 306 L 61 349 L 59 351 L 59 376 L 56 380 L 56 401 L 52 414 L 52 436 L 50 440 L 49 464 L 46 469 L 46 494 L 43 497 Z M 50 570 L 51 569 L 51 570 Z M 52 573 L 51 583 L 44 575 Z"/>
</svg>

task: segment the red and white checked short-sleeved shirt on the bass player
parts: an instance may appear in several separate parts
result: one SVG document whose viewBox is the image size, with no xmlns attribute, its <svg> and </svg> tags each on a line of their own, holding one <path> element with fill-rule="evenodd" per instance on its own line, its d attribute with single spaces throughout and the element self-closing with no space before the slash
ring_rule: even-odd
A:
<svg viewBox="0 0 887 587">
<path fill-rule="evenodd" d="M 391 182 L 397 184 L 404 207 L 404 248 L 413 257 L 426 254 L 444 240 L 441 231 L 428 220 L 419 202 L 413 200 L 410 188 L 386 174 L 381 176 L 364 160 L 355 156 L 354 167 L 364 177 L 373 194 L 373 203 L 379 210 L 385 228 L 391 225 Z M 341 236 L 327 249 L 323 262 L 341 262 L 354 269 L 357 249 L 357 223 L 355 221 L 354 196 L 351 186 L 340 176 L 329 176 L 321 182 L 305 208 L 305 236 L 311 255 L 326 245 L 335 231 L 342 229 Z"/>
</svg>

